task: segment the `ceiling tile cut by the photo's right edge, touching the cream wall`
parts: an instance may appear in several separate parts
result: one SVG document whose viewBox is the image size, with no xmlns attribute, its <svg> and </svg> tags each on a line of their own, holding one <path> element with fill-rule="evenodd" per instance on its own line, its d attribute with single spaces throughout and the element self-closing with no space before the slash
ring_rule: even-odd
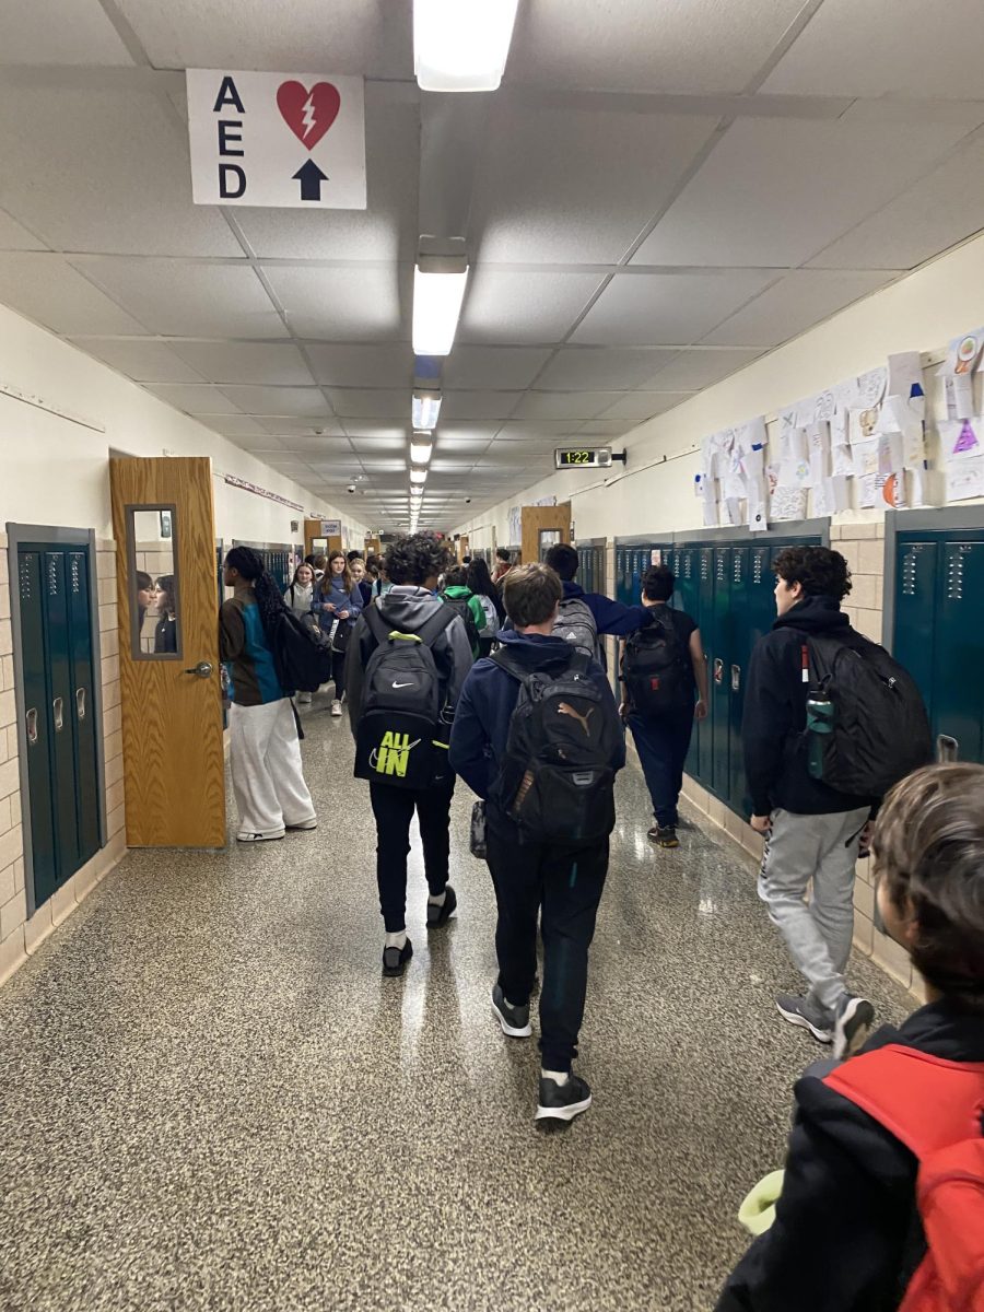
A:
<svg viewBox="0 0 984 1312">
<path fill-rule="evenodd" d="M 946 197 L 946 203 L 941 198 Z M 984 227 L 984 140 L 863 219 L 810 261 L 817 269 L 914 269 Z"/>
</svg>

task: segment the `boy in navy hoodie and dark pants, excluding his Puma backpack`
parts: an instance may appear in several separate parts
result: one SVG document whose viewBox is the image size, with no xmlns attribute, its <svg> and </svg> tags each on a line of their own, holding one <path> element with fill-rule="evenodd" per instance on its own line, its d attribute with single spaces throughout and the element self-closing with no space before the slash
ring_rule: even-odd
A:
<svg viewBox="0 0 984 1312">
<path fill-rule="evenodd" d="M 560 580 L 543 564 L 510 571 L 502 588 L 513 628 L 500 638 L 512 659 L 530 673 L 560 673 L 577 653 L 551 636 L 562 597 Z M 589 676 L 611 711 L 605 672 L 592 661 Z M 516 821 L 500 806 L 496 785 L 506 758 L 509 722 L 518 681 L 493 659 L 483 659 L 466 680 L 451 729 L 451 769 L 485 799 L 488 866 L 496 891 L 499 980 L 492 1009 L 502 1033 L 527 1038 L 530 993 L 537 977 L 537 917 L 542 916 L 543 989 L 539 1000 L 542 1071 L 537 1117 L 571 1120 L 590 1106 L 588 1084 L 573 1075 L 577 1034 L 588 988 L 588 949 L 609 866 L 607 837 L 571 850 L 523 842 Z M 611 769 L 625 765 L 625 740 Z"/>
</svg>

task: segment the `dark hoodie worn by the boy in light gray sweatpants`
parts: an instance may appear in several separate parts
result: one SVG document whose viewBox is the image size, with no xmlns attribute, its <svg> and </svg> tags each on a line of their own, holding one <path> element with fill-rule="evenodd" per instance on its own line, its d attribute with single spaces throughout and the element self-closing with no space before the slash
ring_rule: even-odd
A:
<svg viewBox="0 0 984 1312">
<path fill-rule="evenodd" d="M 837 792 L 810 774 L 804 732 L 810 685 L 803 682 L 803 644 L 810 634 L 859 640 L 834 597 L 804 597 L 779 615 L 752 652 L 741 741 L 757 816 L 768 816 L 774 807 L 794 815 L 833 815 L 878 800 Z"/>
</svg>

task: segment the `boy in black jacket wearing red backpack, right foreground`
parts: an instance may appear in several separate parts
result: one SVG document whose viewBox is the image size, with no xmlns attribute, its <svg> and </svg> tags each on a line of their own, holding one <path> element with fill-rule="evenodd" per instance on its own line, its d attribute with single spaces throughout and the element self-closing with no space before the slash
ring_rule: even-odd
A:
<svg viewBox="0 0 984 1312">
<path fill-rule="evenodd" d="M 984 1307 L 984 766 L 899 783 L 872 851 L 928 1005 L 796 1084 L 775 1220 L 718 1312 Z"/>
</svg>

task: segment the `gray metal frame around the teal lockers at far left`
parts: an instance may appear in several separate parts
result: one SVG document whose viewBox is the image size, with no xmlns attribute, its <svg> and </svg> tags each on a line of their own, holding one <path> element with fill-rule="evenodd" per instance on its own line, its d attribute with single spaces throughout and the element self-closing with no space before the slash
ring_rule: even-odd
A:
<svg viewBox="0 0 984 1312">
<path fill-rule="evenodd" d="M 100 632 L 100 586 L 94 529 L 58 529 L 42 523 L 8 523 L 10 563 L 10 630 L 13 634 L 13 689 L 17 708 L 17 770 L 21 785 L 21 833 L 24 836 L 24 890 L 28 920 L 37 911 L 34 901 L 34 842 L 30 832 L 30 782 L 28 779 L 28 707 L 24 701 L 24 649 L 21 632 L 21 589 L 17 579 L 17 552 L 26 542 L 50 542 L 59 547 L 80 547 L 89 563 L 89 622 L 92 625 L 92 708 L 96 716 L 96 791 L 98 795 L 100 850 L 106 846 L 106 753 L 102 735 L 102 635 Z M 114 555 L 115 559 L 115 555 Z M 114 598 L 115 604 L 115 598 Z"/>
</svg>

